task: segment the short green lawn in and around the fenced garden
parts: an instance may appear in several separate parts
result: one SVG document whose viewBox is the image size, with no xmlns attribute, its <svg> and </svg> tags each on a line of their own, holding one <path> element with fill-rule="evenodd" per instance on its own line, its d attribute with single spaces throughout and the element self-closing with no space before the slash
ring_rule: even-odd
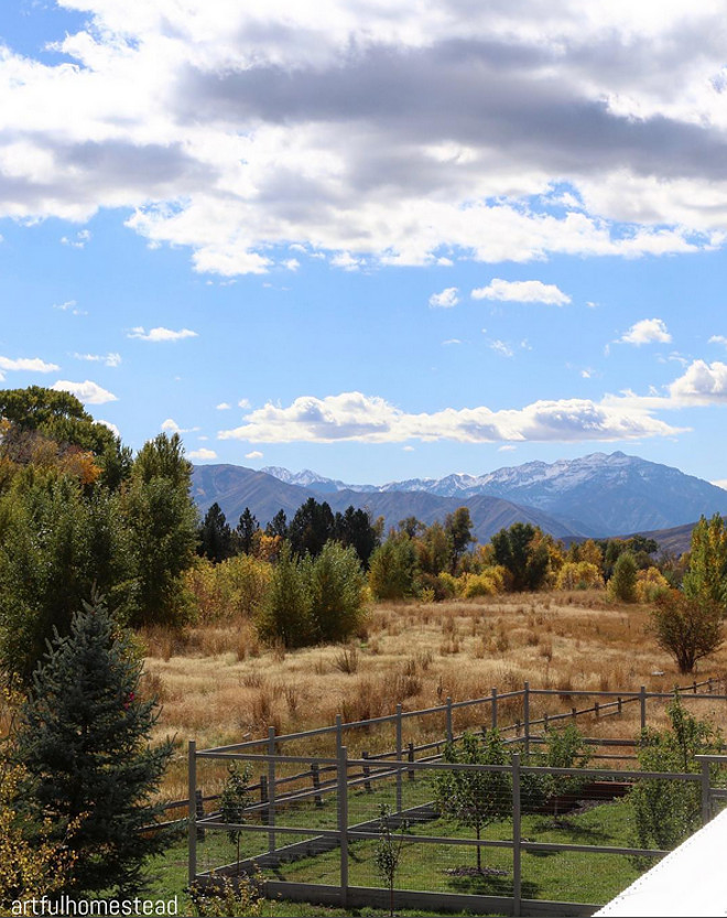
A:
<svg viewBox="0 0 727 918">
<path fill-rule="evenodd" d="M 393 804 L 393 782 L 375 785 L 375 792 L 364 790 L 349 795 L 349 825 L 376 819 L 380 803 Z M 403 806 L 411 808 L 432 800 L 428 781 L 403 782 Z M 314 830 L 333 829 L 336 825 L 335 797 L 324 798 L 324 806 L 312 802 L 291 807 L 278 813 L 278 825 L 302 827 Z M 629 846 L 633 844 L 632 812 L 628 800 L 603 803 L 585 812 L 561 817 L 525 814 L 522 818 L 522 836 L 527 841 L 557 842 L 578 845 Z M 435 819 L 409 829 L 416 835 L 441 835 L 449 839 L 471 839 L 471 830 L 463 829 L 451 819 Z M 279 833 L 278 846 L 300 841 L 301 835 Z M 509 840 L 512 838 L 510 821 L 489 825 L 484 839 Z M 267 833 L 243 833 L 241 856 L 252 857 L 267 850 Z M 376 841 L 352 842 L 349 846 L 349 884 L 351 886 L 383 885 L 375 866 Z M 197 845 L 198 872 L 214 870 L 236 860 L 236 845 L 226 833 L 208 830 L 206 840 Z M 475 849 L 465 845 L 406 844 L 397 877 L 397 887 L 443 893 L 475 895 L 512 895 L 512 852 L 508 849 L 482 849 L 482 865 L 492 873 L 468 875 L 463 867 L 476 864 Z M 151 894 L 159 897 L 178 895 L 184 899 L 187 882 L 186 838 L 180 838 L 163 857 L 153 865 L 156 873 Z M 339 883 L 340 852 L 335 849 L 314 857 L 306 857 L 275 868 L 264 870 L 263 876 L 282 881 L 308 882 L 337 886 Z M 501 873 L 493 873 L 495 871 Z M 586 854 L 578 852 L 539 852 L 522 854 L 522 896 L 524 898 L 556 901 L 604 904 L 632 883 L 639 871 L 629 857 L 612 854 Z M 294 915 L 386 915 L 386 911 L 361 910 L 352 912 L 322 906 L 304 906 L 274 901 L 271 916 Z M 399 914 L 405 915 L 405 911 Z M 420 912 L 421 914 L 421 912 Z M 436 912 L 432 912 L 434 915 Z"/>
</svg>

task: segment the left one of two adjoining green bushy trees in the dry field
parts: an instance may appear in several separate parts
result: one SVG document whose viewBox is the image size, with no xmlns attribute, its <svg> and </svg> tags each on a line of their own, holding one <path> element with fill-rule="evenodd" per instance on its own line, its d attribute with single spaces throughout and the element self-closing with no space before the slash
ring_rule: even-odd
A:
<svg viewBox="0 0 727 918">
<path fill-rule="evenodd" d="M 314 639 L 307 577 L 287 543 L 272 570 L 257 626 L 263 640 L 280 640 L 285 647 L 304 647 Z"/>
</svg>

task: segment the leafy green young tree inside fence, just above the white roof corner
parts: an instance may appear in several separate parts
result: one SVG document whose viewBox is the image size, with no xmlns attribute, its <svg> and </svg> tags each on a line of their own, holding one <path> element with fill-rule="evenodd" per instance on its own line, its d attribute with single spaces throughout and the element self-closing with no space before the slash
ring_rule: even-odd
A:
<svg viewBox="0 0 727 918">
<path fill-rule="evenodd" d="M 643 771 L 698 773 L 701 765 L 694 757 L 718 753 L 719 732 L 708 721 L 697 720 L 685 711 L 679 696 L 666 710 L 669 728 L 644 730 L 641 734 L 637 752 L 639 767 Z M 633 785 L 629 800 L 639 847 L 670 851 L 701 825 L 698 781 L 642 778 Z"/>
</svg>

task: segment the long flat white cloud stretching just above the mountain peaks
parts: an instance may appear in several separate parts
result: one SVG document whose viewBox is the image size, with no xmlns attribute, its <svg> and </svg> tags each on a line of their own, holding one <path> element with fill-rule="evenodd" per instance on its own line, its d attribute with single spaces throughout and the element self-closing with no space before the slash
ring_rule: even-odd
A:
<svg viewBox="0 0 727 918">
<path fill-rule="evenodd" d="M 499 441 L 633 440 L 679 432 L 629 399 L 597 403 L 589 399 L 541 400 L 522 409 L 477 408 L 411 414 L 377 396 L 343 392 L 303 396 L 286 408 L 268 403 L 246 423 L 218 433 L 219 440 L 260 443 L 358 441 L 397 443 L 408 440 Z"/>
</svg>

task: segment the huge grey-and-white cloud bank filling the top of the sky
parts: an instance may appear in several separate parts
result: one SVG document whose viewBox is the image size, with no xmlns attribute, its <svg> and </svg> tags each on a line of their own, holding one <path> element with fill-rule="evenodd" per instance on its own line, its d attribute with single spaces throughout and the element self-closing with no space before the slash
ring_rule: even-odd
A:
<svg viewBox="0 0 727 918">
<path fill-rule="evenodd" d="M 224 277 L 279 244 L 345 270 L 723 245 L 718 0 L 322 3 L 65 0 L 62 56 L 0 55 L 0 216 L 128 208 Z"/>
</svg>

